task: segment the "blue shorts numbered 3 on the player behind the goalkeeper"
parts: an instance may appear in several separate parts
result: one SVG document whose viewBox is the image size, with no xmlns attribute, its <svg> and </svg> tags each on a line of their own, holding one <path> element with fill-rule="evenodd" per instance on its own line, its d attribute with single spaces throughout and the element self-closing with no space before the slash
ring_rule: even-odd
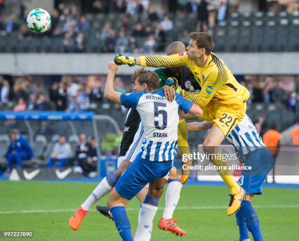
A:
<svg viewBox="0 0 299 241">
<path fill-rule="evenodd" d="M 238 180 L 247 194 L 262 194 L 261 185 L 273 168 L 273 155 L 268 148 L 259 148 L 246 155 L 245 166 L 252 170 L 242 170 Z"/>
</svg>

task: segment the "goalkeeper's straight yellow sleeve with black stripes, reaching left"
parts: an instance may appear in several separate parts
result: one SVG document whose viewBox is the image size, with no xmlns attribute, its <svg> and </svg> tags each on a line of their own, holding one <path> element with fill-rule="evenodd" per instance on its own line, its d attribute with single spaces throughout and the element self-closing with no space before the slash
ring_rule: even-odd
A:
<svg viewBox="0 0 299 241">
<path fill-rule="evenodd" d="M 188 63 L 186 52 L 173 55 L 149 55 L 140 57 L 140 66 L 143 67 L 182 67 Z"/>
</svg>

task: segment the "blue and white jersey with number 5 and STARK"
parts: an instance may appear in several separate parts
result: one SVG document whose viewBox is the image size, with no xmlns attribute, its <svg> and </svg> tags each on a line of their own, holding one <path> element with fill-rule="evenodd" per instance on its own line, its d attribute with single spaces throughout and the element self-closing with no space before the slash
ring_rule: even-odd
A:
<svg viewBox="0 0 299 241">
<path fill-rule="evenodd" d="M 162 90 L 127 93 L 120 98 L 124 107 L 136 109 L 140 114 L 145 136 L 141 158 L 149 161 L 174 160 L 177 153 L 178 110 L 188 113 L 192 102 L 175 94 L 175 99 L 170 103 L 165 100 Z"/>
</svg>

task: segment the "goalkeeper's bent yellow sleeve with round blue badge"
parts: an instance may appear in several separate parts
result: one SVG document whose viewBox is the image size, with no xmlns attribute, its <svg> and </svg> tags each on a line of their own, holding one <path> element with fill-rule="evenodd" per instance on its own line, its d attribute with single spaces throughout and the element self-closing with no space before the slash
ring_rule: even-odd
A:
<svg viewBox="0 0 299 241">
<path fill-rule="evenodd" d="M 182 91 L 183 97 L 198 104 L 200 107 L 206 106 L 215 93 L 226 83 L 228 76 L 224 71 L 219 71 L 215 68 L 207 77 L 199 93 Z"/>
</svg>

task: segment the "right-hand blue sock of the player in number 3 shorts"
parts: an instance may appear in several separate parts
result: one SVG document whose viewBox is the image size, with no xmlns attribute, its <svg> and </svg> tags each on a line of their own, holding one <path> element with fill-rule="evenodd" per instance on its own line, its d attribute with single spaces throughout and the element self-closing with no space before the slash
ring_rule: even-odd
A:
<svg viewBox="0 0 299 241">
<path fill-rule="evenodd" d="M 256 214 L 255 209 L 251 205 L 251 201 L 243 200 L 241 203 L 240 211 L 245 218 L 246 226 L 248 230 L 251 232 L 255 241 L 263 241 L 263 237 L 261 235 L 259 220 Z"/>
</svg>

